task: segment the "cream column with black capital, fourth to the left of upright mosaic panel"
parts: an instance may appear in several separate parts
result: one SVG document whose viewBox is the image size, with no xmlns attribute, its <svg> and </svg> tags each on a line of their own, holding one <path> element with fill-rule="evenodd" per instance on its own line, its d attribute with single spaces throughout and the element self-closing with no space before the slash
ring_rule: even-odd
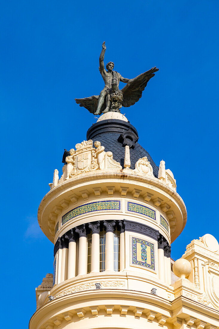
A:
<svg viewBox="0 0 219 329">
<path fill-rule="evenodd" d="M 78 226 L 75 232 L 79 234 L 78 275 L 87 273 L 87 236 L 85 224 Z"/>
</svg>

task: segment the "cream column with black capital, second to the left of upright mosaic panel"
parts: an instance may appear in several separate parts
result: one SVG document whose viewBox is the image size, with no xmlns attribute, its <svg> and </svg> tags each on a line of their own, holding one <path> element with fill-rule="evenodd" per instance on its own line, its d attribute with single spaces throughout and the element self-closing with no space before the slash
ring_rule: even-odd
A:
<svg viewBox="0 0 219 329">
<path fill-rule="evenodd" d="M 106 246 L 105 246 L 105 271 L 113 271 L 114 247 L 113 247 L 113 231 L 115 227 L 115 220 L 104 220 L 104 227 L 106 228 Z"/>
</svg>

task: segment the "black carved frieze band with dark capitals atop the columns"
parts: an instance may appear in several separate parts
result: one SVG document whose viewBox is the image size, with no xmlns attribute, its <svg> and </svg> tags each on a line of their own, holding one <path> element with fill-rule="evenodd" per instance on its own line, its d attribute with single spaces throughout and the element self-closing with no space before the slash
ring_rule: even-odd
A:
<svg viewBox="0 0 219 329">
<path fill-rule="evenodd" d="M 113 232 L 115 229 L 120 231 L 120 233 L 125 231 L 140 233 L 158 241 L 158 249 L 162 248 L 164 250 L 164 256 L 170 257 L 171 246 L 158 230 L 145 224 L 136 223 L 126 219 L 89 222 L 70 229 L 56 241 L 54 246 L 54 257 L 59 249 L 68 248 L 70 242 L 76 242 L 80 237 L 86 237 L 87 234 L 90 233 L 100 233 L 102 230 L 105 230 L 106 233 Z"/>
</svg>

